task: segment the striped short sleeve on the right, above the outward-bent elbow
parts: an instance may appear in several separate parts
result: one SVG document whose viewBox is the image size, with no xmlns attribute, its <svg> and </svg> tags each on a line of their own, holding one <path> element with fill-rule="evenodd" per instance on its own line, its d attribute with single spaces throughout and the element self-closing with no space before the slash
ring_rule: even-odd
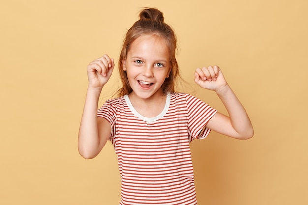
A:
<svg viewBox="0 0 308 205">
<path fill-rule="evenodd" d="M 191 135 L 190 138 L 191 140 L 204 139 L 211 131 L 205 126 L 217 111 L 192 95 L 187 96 L 186 102 L 188 110 L 188 129 Z"/>
</svg>

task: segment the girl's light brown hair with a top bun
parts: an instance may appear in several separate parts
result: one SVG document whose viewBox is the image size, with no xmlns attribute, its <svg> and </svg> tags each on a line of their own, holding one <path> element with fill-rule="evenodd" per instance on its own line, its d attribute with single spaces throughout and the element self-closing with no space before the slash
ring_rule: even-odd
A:
<svg viewBox="0 0 308 205">
<path fill-rule="evenodd" d="M 132 92 L 126 71 L 123 70 L 123 60 L 126 59 L 131 44 L 141 35 L 153 35 L 165 40 L 170 54 L 170 75 L 161 86 L 163 93 L 174 92 L 177 77 L 179 76 L 178 62 L 175 57 L 177 51 L 177 38 L 173 29 L 164 22 L 163 13 L 156 8 L 145 8 L 139 14 L 139 20 L 127 31 L 123 41 L 119 58 L 119 73 L 123 87 L 117 91 L 121 97 Z"/>
</svg>

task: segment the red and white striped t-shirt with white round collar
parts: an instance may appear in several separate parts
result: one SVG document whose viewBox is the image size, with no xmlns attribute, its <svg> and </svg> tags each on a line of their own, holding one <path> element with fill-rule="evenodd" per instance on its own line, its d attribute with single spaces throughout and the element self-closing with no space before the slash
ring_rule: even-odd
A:
<svg viewBox="0 0 308 205">
<path fill-rule="evenodd" d="M 120 205 L 196 205 L 189 143 L 205 138 L 216 110 L 185 93 L 168 93 L 156 117 L 140 115 L 127 95 L 98 110 L 112 131 L 121 176 Z"/>
</svg>

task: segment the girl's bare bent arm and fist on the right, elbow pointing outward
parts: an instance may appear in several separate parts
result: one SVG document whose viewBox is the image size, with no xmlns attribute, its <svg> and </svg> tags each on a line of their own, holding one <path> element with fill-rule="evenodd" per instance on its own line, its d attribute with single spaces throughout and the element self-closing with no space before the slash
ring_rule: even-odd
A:
<svg viewBox="0 0 308 205">
<path fill-rule="evenodd" d="M 216 113 L 206 125 L 207 128 L 242 140 L 253 136 L 251 121 L 218 66 L 197 68 L 195 82 L 201 88 L 214 90 L 229 114 L 229 116 L 226 116 L 222 113 Z"/>
</svg>

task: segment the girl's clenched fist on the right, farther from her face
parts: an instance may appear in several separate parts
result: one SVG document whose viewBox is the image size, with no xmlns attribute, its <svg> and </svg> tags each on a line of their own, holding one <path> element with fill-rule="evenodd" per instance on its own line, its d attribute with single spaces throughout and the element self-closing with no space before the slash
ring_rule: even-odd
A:
<svg viewBox="0 0 308 205">
<path fill-rule="evenodd" d="M 215 92 L 228 85 L 222 71 L 218 66 L 197 68 L 195 72 L 195 82 L 201 87 Z"/>
</svg>

